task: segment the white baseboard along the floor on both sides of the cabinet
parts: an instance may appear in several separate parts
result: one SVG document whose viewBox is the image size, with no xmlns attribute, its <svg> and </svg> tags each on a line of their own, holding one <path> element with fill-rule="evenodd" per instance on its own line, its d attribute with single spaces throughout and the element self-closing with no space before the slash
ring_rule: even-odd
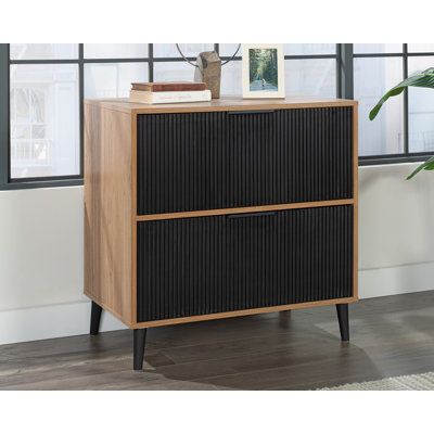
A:
<svg viewBox="0 0 434 434">
<path fill-rule="evenodd" d="M 434 263 L 359 271 L 359 297 L 371 298 L 434 289 Z M 0 311 L 0 344 L 89 333 L 90 303 L 68 303 Z M 101 331 L 126 327 L 104 312 Z"/>
</svg>

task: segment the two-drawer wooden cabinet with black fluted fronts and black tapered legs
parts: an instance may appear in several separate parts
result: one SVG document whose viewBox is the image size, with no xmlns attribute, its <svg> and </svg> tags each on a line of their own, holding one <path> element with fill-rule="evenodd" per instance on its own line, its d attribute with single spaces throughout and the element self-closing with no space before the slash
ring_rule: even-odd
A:
<svg viewBox="0 0 434 434">
<path fill-rule="evenodd" d="M 357 103 L 85 107 L 85 293 L 135 330 L 357 299 Z"/>
</svg>

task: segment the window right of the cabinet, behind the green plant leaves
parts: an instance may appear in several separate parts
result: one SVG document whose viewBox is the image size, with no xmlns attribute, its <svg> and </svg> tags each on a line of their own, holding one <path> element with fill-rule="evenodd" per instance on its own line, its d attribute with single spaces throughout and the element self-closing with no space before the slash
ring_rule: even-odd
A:
<svg viewBox="0 0 434 434">
<path fill-rule="evenodd" d="M 434 92 L 410 88 L 392 98 L 373 122 L 370 110 L 393 86 L 434 66 L 431 43 L 354 44 L 354 98 L 359 100 L 361 162 L 424 159 L 434 152 Z"/>
</svg>

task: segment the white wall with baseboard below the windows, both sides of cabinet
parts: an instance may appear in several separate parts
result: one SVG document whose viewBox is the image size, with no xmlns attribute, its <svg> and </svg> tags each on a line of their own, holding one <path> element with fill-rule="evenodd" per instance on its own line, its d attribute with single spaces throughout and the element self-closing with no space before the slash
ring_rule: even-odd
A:
<svg viewBox="0 0 434 434">
<path fill-rule="evenodd" d="M 413 167 L 359 169 L 361 298 L 433 289 L 434 174 Z M 0 344 L 88 332 L 82 219 L 81 187 L 0 192 Z"/>
</svg>

